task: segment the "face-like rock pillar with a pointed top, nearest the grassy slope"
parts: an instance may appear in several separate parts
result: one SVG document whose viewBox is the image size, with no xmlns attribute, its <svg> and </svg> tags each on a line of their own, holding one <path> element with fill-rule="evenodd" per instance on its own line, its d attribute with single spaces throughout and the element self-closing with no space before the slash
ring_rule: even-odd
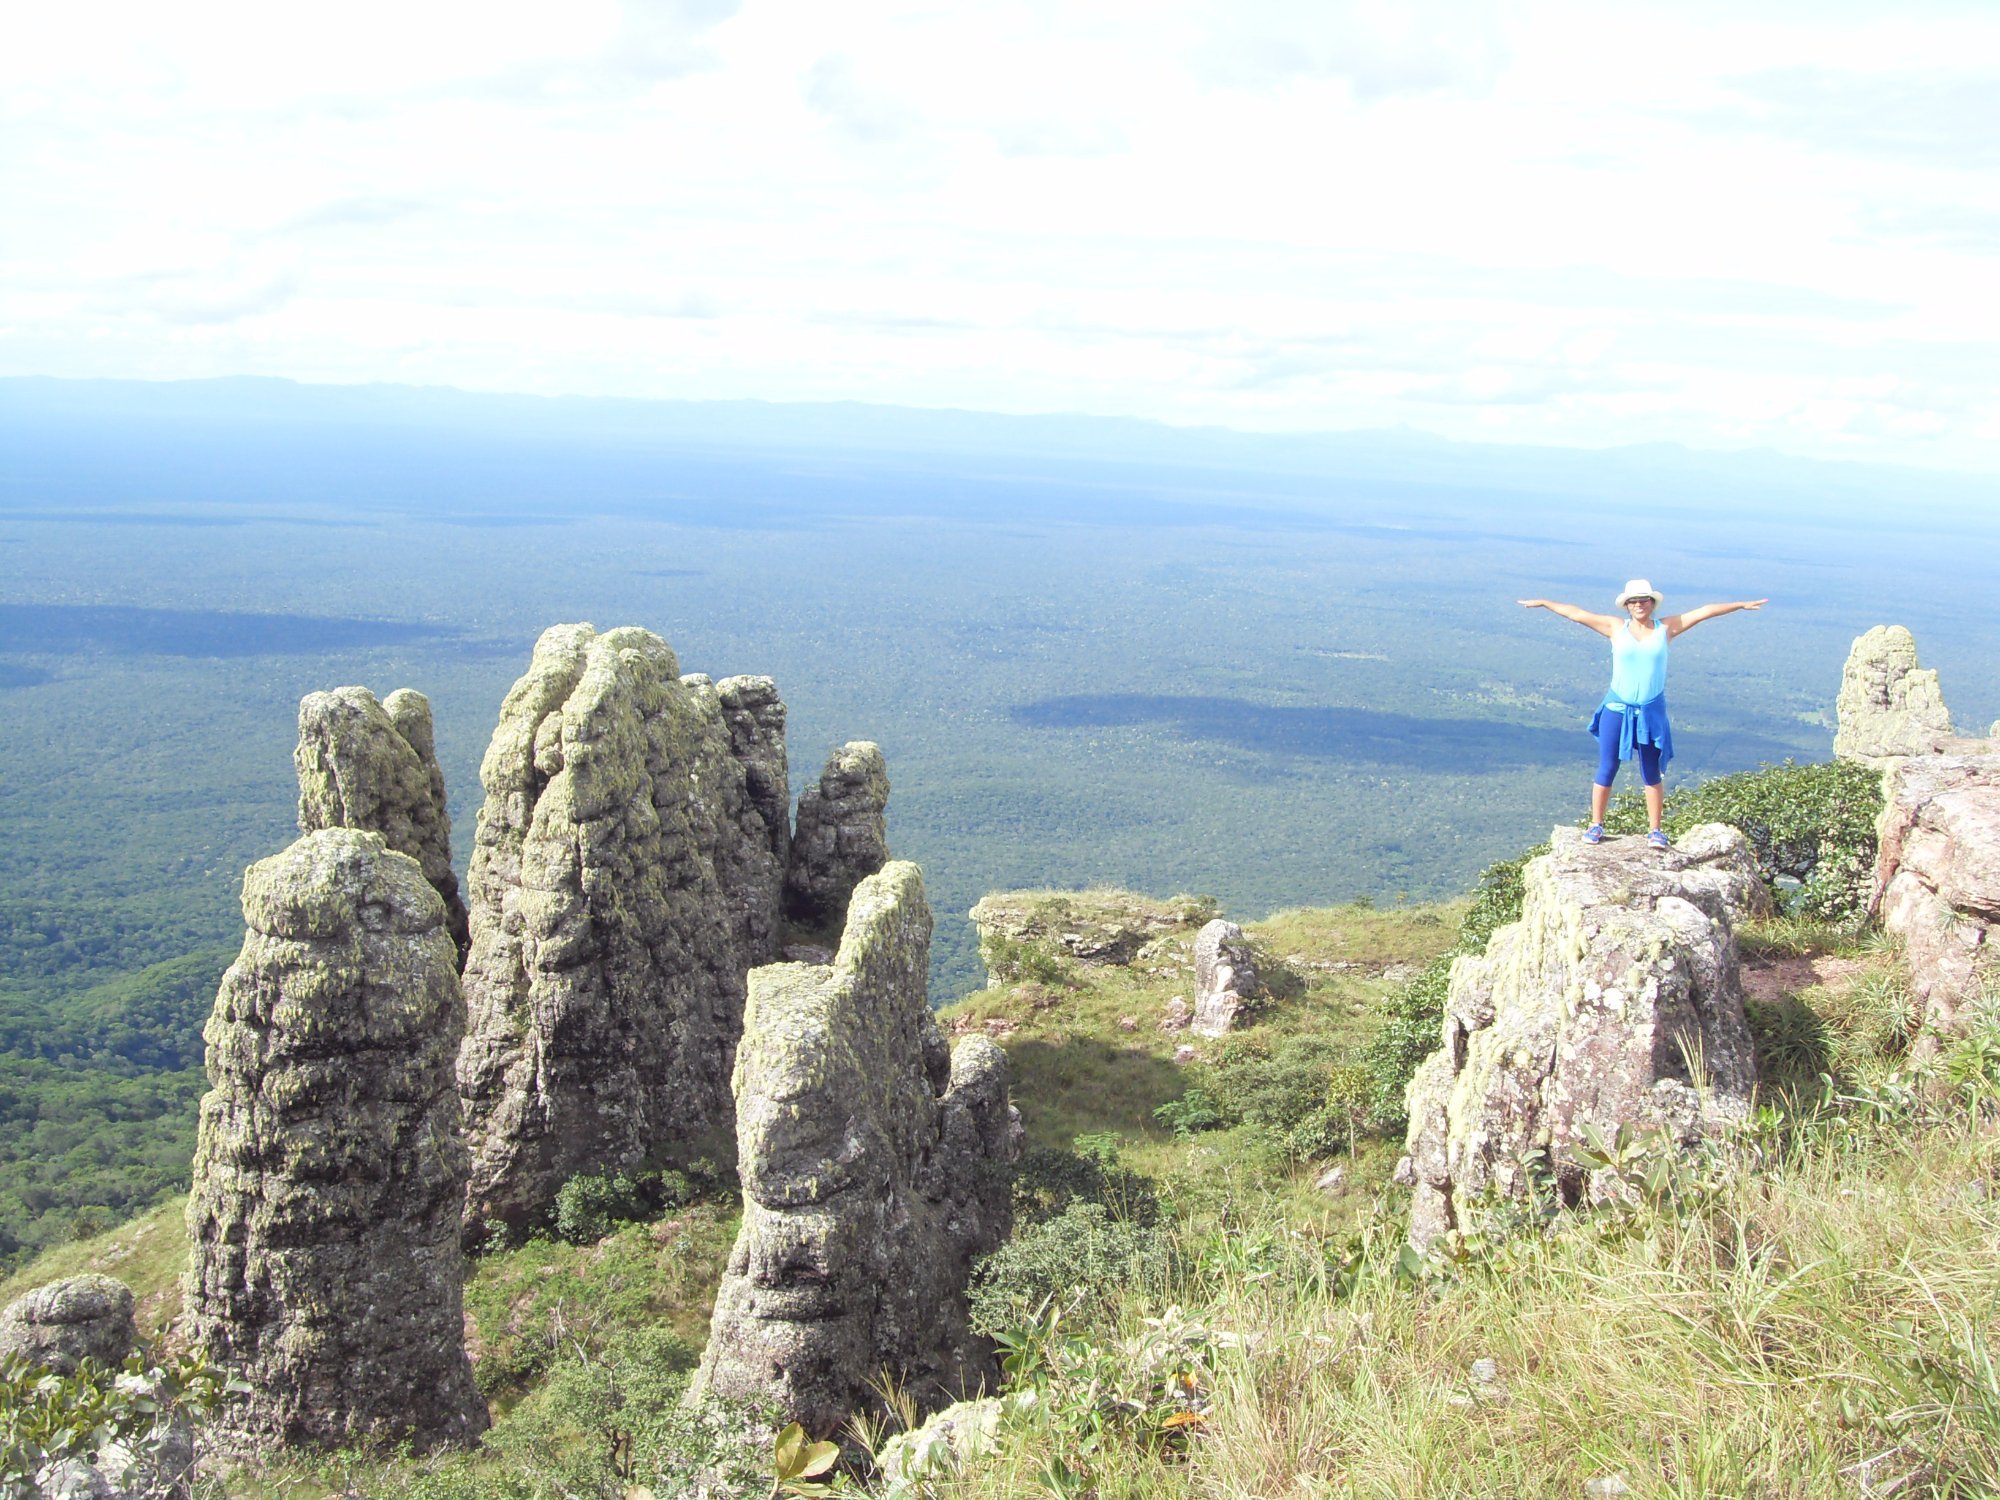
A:
<svg viewBox="0 0 2000 1500">
<path fill-rule="evenodd" d="M 924 1408 L 990 1374 L 966 1282 L 1012 1228 L 1020 1124 L 1006 1054 L 984 1036 L 946 1050 L 928 968 L 922 876 L 898 860 L 854 890 L 832 968 L 750 976 L 744 1222 L 700 1380 L 818 1434 L 870 1406 L 884 1370 Z"/>
</svg>

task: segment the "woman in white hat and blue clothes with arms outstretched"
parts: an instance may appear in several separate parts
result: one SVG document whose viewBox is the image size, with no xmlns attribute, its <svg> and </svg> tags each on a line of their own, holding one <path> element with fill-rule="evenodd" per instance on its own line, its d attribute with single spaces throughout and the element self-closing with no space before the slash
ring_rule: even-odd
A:
<svg viewBox="0 0 2000 1500">
<path fill-rule="evenodd" d="M 1612 800 L 1618 766 L 1638 752 L 1638 774 L 1646 782 L 1646 822 L 1652 824 L 1646 842 L 1652 848 L 1666 848 L 1666 832 L 1660 828 L 1666 786 L 1660 772 L 1674 758 L 1674 732 L 1666 724 L 1666 644 L 1682 630 L 1694 630 L 1702 620 L 1736 614 L 1736 610 L 1762 610 L 1770 600 L 1704 604 L 1686 614 L 1654 620 L 1660 592 L 1644 578 L 1634 578 L 1618 592 L 1618 608 L 1626 612 L 1624 620 L 1616 614 L 1592 614 L 1574 604 L 1556 604 L 1546 598 L 1524 598 L 1520 604 L 1528 610 L 1554 610 L 1564 620 L 1590 626 L 1612 642 L 1612 688 L 1590 718 L 1590 732 L 1598 740 L 1598 774 L 1590 786 L 1590 830 L 1584 838 L 1592 844 L 1604 842 L 1604 810 Z"/>
</svg>

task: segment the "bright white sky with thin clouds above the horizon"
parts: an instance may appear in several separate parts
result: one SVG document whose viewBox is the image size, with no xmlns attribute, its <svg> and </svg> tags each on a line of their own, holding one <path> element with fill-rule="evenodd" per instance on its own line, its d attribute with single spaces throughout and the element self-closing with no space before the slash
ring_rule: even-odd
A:
<svg viewBox="0 0 2000 1500">
<path fill-rule="evenodd" d="M 2000 472 L 2000 4 L 0 0 L 0 374 Z"/>
</svg>

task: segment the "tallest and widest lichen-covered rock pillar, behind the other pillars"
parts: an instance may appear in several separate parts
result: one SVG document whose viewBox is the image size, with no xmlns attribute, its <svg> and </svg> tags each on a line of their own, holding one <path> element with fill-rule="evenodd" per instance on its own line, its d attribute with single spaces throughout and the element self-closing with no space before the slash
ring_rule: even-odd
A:
<svg viewBox="0 0 2000 1500">
<path fill-rule="evenodd" d="M 762 726 L 732 738 L 726 700 Z M 552 626 L 500 708 L 472 848 L 458 1088 L 468 1232 L 542 1216 L 578 1172 L 726 1130 L 750 956 L 780 866 L 738 742 L 756 694 L 682 680 L 650 630 Z"/>
</svg>

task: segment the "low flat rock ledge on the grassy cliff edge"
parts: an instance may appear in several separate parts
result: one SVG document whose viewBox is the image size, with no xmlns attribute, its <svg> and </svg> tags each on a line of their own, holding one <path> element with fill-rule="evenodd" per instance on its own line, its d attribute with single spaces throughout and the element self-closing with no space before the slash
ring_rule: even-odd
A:
<svg viewBox="0 0 2000 1500">
<path fill-rule="evenodd" d="M 1130 890 L 1002 890 L 968 912 L 980 934 L 986 984 L 996 990 L 1032 978 L 1028 970 L 1038 958 L 1090 968 L 1148 960 L 1184 966 L 1188 932 L 1214 914 L 1206 896 L 1162 902 Z"/>
</svg>

